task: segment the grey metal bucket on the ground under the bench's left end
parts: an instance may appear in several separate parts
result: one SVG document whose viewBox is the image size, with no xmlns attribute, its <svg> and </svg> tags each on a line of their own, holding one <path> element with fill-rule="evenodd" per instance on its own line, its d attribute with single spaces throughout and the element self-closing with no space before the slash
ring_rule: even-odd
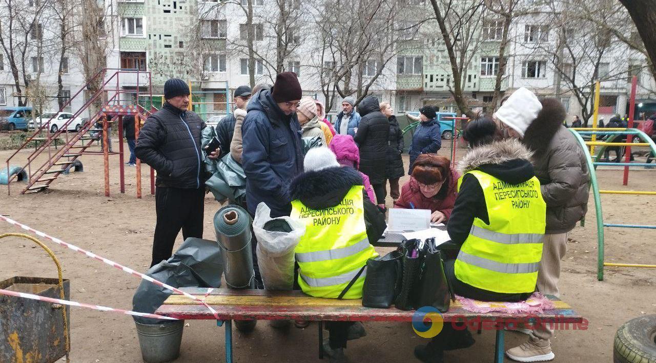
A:
<svg viewBox="0 0 656 363">
<path fill-rule="evenodd" d="M 163 363 L 178 358 L 184 320 L 165 324 L 136 324 L 144 362 Z"/>
</svg>

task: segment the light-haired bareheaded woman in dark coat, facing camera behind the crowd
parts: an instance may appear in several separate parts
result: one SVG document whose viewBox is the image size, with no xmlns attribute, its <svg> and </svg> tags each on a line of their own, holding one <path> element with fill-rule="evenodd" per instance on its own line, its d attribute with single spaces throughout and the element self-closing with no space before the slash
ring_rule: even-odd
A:
<svg viewBox="0 0 656 363">
<path fill-rule="evenodd" d="M 403 153 L 403 133 L 401 132 L 401 127 L 399 126 L 396 117 L 394 116 L 394 109 L 392 105 L 388 102 L 382 102 L 380 104 L 380 112 L 382 112 L 387 120 L 390 123 L 390 136 L 388 137 L 387 142 L 387 164 L 385 169 L 385 177 L 390 181 L 390 195 L 394 202 L 401 196 L 399 190 L 399 178 L 405 174 L 403 170 L 403 159 L 401 159 L 401 153 Z M 387 183 L 383 183 L 383 186 L 386 186 Z"/>
</svg>

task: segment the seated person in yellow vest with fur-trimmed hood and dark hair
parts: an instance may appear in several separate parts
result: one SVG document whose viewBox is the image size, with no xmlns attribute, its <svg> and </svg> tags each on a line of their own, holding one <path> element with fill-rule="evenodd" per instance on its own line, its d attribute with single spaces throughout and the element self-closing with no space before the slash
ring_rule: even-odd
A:
<svg viewBox="0 0 656 363">
<path fill-rule="evenodd" d="M 462 134 L 472 148 L 459 162 L 462 177 L 447 225 L 457 258 L 444 271 L 455 294 L 483 301 L 521 301 L 535 291 L 542 256 L 546 204 L 518 140 L 501 140 L 491 119 L 470 122 Z M 468 330 L 445 324 L 427 345 L 422 362 L 443 362 L 443 351 L 474 344 Z"/>
</svg>

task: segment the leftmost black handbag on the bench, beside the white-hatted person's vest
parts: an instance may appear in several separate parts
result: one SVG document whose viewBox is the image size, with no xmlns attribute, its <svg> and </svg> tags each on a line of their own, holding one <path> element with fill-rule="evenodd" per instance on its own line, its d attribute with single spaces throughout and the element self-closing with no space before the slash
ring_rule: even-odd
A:
<svg viewBox="0 0 656 363">
<path fill-rule="evenodd" d="M 400 251 L 367 261 L 367 276 L 362 288 L 362 306 L 387 309 L 392 305 L 401 273 Z"/>
</svg>

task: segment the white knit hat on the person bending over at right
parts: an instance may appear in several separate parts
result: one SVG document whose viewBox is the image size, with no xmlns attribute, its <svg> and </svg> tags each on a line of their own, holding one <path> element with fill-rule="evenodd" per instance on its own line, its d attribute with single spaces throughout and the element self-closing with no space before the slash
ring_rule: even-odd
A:
<svg viewBox="0 0 656 363">
<path fill-rule="evenodd" d="M 537 118 L 541 109 L 542 104 L 537 96 L 522 87 L 510 95 L 508 100 L 494 113 L 493 117 L 517 131 L 523 138 L 524 132 Z"/>
</svg>

